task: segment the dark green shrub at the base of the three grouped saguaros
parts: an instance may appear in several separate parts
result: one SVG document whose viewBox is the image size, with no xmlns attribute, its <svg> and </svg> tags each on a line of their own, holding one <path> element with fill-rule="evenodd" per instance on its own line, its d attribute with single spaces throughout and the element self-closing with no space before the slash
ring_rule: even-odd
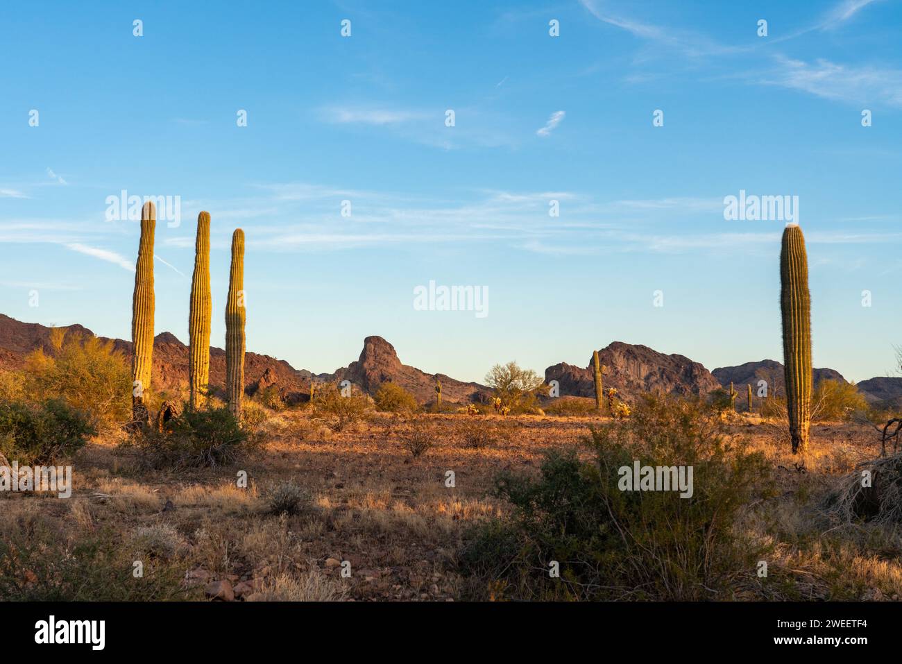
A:
<svg viewBox="0 0 902 664">
<path fill-rule="evenodd" d="M 154 468 L 228 466 L 256 447 L 259 439 L 227 408 L 187 409 L 170 420 L 168 431 L 145 427 L 124 442 L 142 463 Z"/>
</svg>

